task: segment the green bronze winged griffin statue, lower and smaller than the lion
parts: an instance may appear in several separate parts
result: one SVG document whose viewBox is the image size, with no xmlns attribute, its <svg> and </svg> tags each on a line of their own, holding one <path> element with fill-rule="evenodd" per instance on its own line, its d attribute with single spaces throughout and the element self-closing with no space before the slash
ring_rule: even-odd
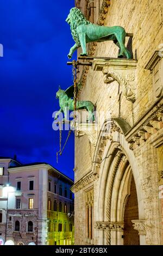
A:
<svg viewBox="0 0 163 256">
<path fill-rule="evenodd" d="M 56 120 L 61 112 L 64 112 L 64 120 L 67 120 L 67 109 L 70 111 L 74 110 L 74 99 L 73 97 L 74 87 L 71 86 L 66 90 L 61 90 L 59 87 L 56 93 L 56 98 L 59 99 L 59 111 L 55 114 L 54 120 Z M 95 115 L 93 114 L 94 105 L 91 101 L 77 101 L 76 110 L 86 109 L 89 112 L 88 121 L 95 121 Z"/>
</svg>

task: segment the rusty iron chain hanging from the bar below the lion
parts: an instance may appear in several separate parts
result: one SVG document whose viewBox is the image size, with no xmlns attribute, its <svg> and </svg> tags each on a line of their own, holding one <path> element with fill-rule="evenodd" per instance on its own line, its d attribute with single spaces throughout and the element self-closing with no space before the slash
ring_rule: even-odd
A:
<svg viewBox="0 0 163 256">
<path fill-rule="evenodd" d="M 73 66 L 73 69 L 72 69 L 72 74 L 73 74 L 73 86 L 74 86 L 74 119 L 76 119 L 76 109 L 77 109 L 77 93 L 78 93 L 78 84 L 77 84 L 77 79 L 78 79 L 78 73 L 79 73 L 79 69 L 78 69 L 78 62 L 76 62 L 76 60 L 73 60 L 72 62 L 72 66 Z M 74 125 L 74 121 L 73 121 L 73 125 Z M 72 125 L 72 127 L 73 127 Z M 67 139 L 66 139 L 66 142 L 63 146 L 63 148 L 61 149 L 61 137 L 62 137 L 62 133 L 61 133 L 61 124 L 59 122 L 59 133 L 60 133 L 60 136 L 59 136 L 59 151 L 57 152 L 57 163 L 58 163 L 58 154 L 61 156 L 62 155 L 62 152 L 64 151 L 65 147 L 66 147 L 66 144 L 67 144 L 67 141 L 68 141 L 68 138 L 70 137 L 71 135 L 71 132 L 72 130 L 70 130 L 68 132 L 68 136 L 67 136 Z"/>
</svg>

